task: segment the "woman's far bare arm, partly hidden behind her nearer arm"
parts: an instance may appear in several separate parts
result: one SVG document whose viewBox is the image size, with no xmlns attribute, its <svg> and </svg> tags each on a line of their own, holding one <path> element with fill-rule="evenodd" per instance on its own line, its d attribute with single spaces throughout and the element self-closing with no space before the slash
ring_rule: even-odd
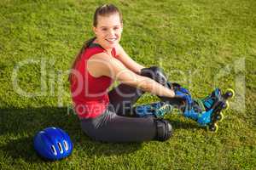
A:
<svg viewBox="0 0 256 170">
<path fill-rule="evenodd" d="M 131 59 L 131 57 L 126 54 L 124 48 L 122 48 L 120 44 L 116 46 L 115 50 L 116 55 L 118 56 L 117 59 L 119 59 L 119 61 L 121 61 L 125 67 L 137 74 L 140 74 L 141 70 L 144 68 L 143 65 L 140 65 L 135 60 Z"/>
</svg>

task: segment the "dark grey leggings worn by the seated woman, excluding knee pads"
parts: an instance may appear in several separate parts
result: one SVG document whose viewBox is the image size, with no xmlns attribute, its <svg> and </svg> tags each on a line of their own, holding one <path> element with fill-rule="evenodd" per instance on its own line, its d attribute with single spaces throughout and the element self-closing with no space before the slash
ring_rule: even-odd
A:
<svg viewBox="0 0 256 170">
<path fill-rule="evenodd" d="M 96 118 L 82 119 L 81 127 L 91 138 L 104 142 L 142 142 L 157 138 L 154 116 L 136 117 L 131 111 L 141 90 L 120 84 L 108 93 L 108 110 Z M 169 130 L 172 130 L 171 125 Z"/>
</svg>

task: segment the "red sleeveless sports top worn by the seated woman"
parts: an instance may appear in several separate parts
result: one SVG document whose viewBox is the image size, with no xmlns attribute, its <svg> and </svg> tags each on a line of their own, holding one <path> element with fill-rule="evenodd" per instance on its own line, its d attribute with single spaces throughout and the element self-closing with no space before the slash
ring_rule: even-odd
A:
<svg viewBox="0 0 256 170">
<path fill-rule="evenodd" d="M 79 118 L 95 118 L 106 111 L 109 104 L 108 88 L 113 80 L 109 77 L 92 77 L 87 71 L 87 61 L 94 54 L 106 53 L 100 45 L 92 43 L 73 70 L 74 81 L 71 82 L 73 105 Z M 115 49 L 111 51 L 116 57 Z"/>
</svg>

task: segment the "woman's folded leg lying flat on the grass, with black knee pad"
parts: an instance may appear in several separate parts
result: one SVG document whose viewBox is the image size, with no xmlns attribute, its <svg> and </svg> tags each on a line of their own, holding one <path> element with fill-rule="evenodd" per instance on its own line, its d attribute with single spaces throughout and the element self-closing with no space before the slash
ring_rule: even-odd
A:
<svg viewBox="0 0 256 170">
<path fill-rule="evenodd" d="M 164 141 L 172 135 L 172 126 L 164 119 L 118 116 L 111 107 L 102 116 L 82 119 L 81 127 L 91 139 L 103 142 Z"/>
</svg>

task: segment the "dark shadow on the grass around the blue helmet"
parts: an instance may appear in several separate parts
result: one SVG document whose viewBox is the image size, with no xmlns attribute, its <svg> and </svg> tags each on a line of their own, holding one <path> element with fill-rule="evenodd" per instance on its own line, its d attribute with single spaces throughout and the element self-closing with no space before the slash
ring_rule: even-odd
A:
<svg viewBox="0 0 256 170">
<path fill-rule="evenodd" d="M 60 127 L 71 137 L 74 150 L 83 156 L 125 155 L 142 147 L 141 143 L 109 144 L 91 140 L 80 128 L 79 118 L 68 113 L 67 107 L 0 109 L 0 149 L 12 159 L 42 162 L 33 149 L 33 136 L 45 127 Z M 191 128 L 191 124 L 172 122 L 175 128 Z"/>
</svg>

